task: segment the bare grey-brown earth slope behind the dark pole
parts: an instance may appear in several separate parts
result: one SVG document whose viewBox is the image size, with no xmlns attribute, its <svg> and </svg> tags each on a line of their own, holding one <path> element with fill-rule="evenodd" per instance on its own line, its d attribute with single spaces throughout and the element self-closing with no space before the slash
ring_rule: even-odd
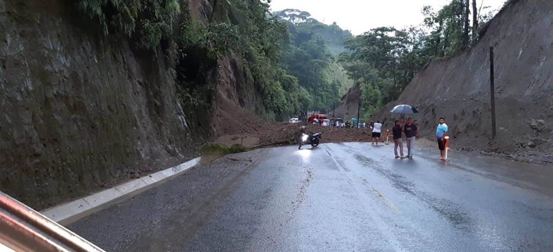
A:
<svg viewBox="0 0 553 252">
<path fill-rule="evenodd" d="M 465 53 L 427 65 L 398 101 L 374 119 L 398 118 L 388 111 L 411 104 L 422 135 L 434 139 L 440 117 L 450 127 L 453 148 L 487 150 L 527 160 L 553 161 L 553 2 L 513 0 Z M 491 139 L 489 47 L 495 50 L 498 137 Z M 391 127 L 391 126 L 390 126 Z"/>
</svg>

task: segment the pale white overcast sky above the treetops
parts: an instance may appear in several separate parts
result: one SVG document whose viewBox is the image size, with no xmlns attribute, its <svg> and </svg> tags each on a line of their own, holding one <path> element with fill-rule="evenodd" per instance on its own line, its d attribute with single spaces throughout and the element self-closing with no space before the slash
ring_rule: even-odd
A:
<svg viewBox="0 0 553 252">
<path fill-rule="evenodd" d="M 502 7 L 505 2 L 477 0 L 478 6 L 482 1 L 484 6 L 491 6 L 493 9 Z M 451 0 L 272 0 L 271 10 L 305 10 L 311 13 L 311 17 L 325 24 L 336 22 L 342 29 L 359 35 L 376 27 L 403 28 L 418 25 L 424 19 L 421 14 L 422 6 L 431 5 L 439 10 L 448 2 Z"/>
</svg>

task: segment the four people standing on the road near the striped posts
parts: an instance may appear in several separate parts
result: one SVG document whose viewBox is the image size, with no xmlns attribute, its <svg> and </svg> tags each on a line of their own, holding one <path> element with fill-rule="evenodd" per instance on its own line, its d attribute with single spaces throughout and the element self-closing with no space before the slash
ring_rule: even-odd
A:
<svg viewBox="0 0 553 252">
<path fill-rule="evenodd" d="M 380 130 L 382 129 L 382 124 L 379 120 L 374 123 L 373 127 L 373 143 L 378 145 L 378 139 L 380 138 Z M 446 119 L 441 117 L 440 124 L 436 127 L 436 139 L 438 141 L 438 149 L 440 149 L 440 160 L 444 160 L 445 148 L 446 148 L 446 136 L 447 136 L 447 124 Z M 393 139 L 394 139 L 394 155 L 395 158 L 413 158 L 413 151 L 415 148 L 415 139 L 419 137 L 419 129 L 413 123 L 413 119 L 408 118 L 407 122 L 404 123 L 403 127 L 400 124 L 399 120 L 395 120 L 394 128 L 392 128 Z M 403 138 L 401 133 L 405 134 L 405 143 L 407 145 L 407 155 L 403 155 Z M 398 155 L 399 147 L 399 155 Z"/>
</svg>

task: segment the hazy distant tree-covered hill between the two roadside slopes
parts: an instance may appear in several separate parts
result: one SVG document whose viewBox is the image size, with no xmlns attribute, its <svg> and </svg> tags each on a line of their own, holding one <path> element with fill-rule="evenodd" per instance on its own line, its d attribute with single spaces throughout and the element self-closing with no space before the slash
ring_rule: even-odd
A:
<svg viewBox="0 0 553 252">
<path fill-rule="evenodd" d="M 285 9 L 273 15 L 288 27 L 290 43 L 283 48 L 283 65 L 309 93 L 304 108 L 326 111 L 353 84 L 337 61 L 337 55 L 347 50 L 344 43 L 353 35 L 336 23 L 323 24 L 301 10 Z"/>
</svg>

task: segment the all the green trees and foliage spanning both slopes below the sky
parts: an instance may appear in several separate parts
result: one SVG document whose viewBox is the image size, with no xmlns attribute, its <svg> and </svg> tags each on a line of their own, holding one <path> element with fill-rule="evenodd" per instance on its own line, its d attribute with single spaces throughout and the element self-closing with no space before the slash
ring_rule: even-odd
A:
<svg viewBox="0 0 553 252">
<path fill-rule="evenodd" d="M 208 109 L 213 86 L 206 72 L 217 59 L 241 60 L 247 81 L 263 95 L 269 118 L 307 110 L 326 111 L 348 88 L 362 88 L 364 116 L 398 98 L 428 62 L 468 49 L 491 14 L 469 0 L 424 7 L 419 27 L 380 27 L 353 36 L 308 12 L 270 13 L 267 0 L 210 0 L 208 22 L 191 16 L 187 0 L 79 0 L 78 7 L 105 34 L 126 34 L 137 48 L 163 49 L 175 64 L 179 95 L 187 106 Z M 472 25 L 469 25 L 470 14 Z M 483 25 L 479 25 L 483 24 Z M 482 28 L 481 28 L 482 27 Z"/>
</svg>

